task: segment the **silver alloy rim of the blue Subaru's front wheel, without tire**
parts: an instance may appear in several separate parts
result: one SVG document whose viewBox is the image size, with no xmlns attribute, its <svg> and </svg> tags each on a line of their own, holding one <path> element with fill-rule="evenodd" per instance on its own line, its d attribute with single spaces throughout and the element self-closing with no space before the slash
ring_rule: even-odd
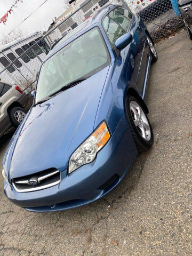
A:
<svg viewBox="0 0 192 256">
<path fill-rule="evenodd" d="M 151 138 L 150 125 L 146 114 L 136 101 L 130 102 L 130 110 L 133 122 L 143 139 L 149 141 Z"/>
</svg>

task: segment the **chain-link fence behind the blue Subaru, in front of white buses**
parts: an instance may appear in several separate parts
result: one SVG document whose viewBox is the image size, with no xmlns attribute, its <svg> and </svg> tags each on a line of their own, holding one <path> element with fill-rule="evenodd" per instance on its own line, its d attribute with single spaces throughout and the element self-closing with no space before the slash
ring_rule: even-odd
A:
<svg viewBox="0 0 192 256">
<path fill-rule="evenodd" d="M 73 5 L 73 0 L 70 2 Z M 87 0 L 83 4 L 74 4 L 66 17 L 52 23 L 46 34 L 35 33 L 0 47 L 1 82 L 17 85 L 26 93 L 34 90 L 39 68 L 51 47 L 108 4 L 128 6 L 133 13 L 139 14 L 155 42 L 183 26 L 181 16 L 175 13 L 170 0 Z M 49 72 L 51 76 L 54 67 L 49 67 Z"/>
</svg>

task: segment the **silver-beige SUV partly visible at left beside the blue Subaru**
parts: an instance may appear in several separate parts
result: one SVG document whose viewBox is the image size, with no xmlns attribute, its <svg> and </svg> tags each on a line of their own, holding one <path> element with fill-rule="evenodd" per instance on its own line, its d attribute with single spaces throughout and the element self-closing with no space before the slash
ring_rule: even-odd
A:
<svg viewBox="0 0 192 256">
<path fill-rule="evenodd" d="M 23 121 L 28 99 L 19 86 L 0 81 L 0 138 L 12 125 L 18 127 Z"/>
</svg>

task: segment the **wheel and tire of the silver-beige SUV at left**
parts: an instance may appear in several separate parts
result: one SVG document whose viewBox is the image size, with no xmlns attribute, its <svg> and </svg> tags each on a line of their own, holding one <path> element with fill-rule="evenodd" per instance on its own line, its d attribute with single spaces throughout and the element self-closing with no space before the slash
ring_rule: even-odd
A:
<svg viewBox="0 0 192 256">
<path fill-rule="evenodd" d="M 26 114 L 27 114 L 27 111 L 24 108 L 21 108 L 21 107 L 11 108 L 11 110 L 9 111 L 9 117 L 12 125 L 17 128 L 25 118 Z"/>
</svg>

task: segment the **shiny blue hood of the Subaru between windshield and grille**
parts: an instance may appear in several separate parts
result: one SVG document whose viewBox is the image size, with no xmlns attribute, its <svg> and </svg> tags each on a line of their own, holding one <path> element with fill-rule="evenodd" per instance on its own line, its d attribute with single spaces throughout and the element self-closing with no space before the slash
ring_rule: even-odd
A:
<svg viewBox="0 0 192 256">
<path fill-rule="evenodd" d="M 9 180 L 67 168 L 70 155 L 93 132 L 108 69 L 30 109 L 4 156 Z"/>
</svg>

